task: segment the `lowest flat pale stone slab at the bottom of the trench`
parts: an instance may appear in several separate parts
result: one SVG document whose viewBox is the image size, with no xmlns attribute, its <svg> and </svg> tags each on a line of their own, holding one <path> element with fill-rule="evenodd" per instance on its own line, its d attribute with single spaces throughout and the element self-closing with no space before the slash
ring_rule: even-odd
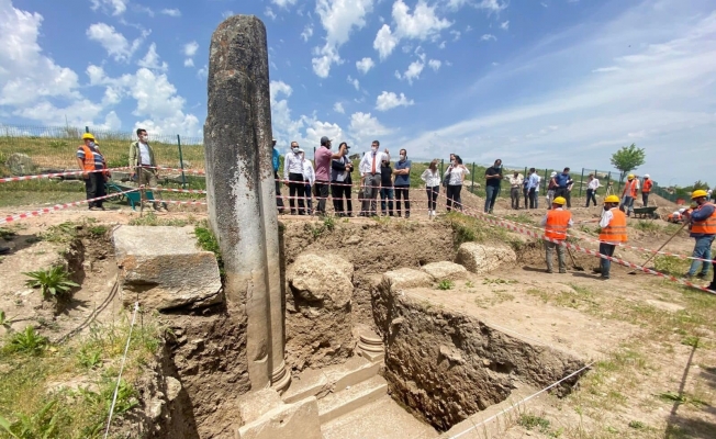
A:
<svg viewBox="0 0 716 439">
<path fill-rule="evenodd" d="M 390 396 L 321 424 L 323 439 L 433 439 L 438 432 L 416 419 Z"/>
</svg>

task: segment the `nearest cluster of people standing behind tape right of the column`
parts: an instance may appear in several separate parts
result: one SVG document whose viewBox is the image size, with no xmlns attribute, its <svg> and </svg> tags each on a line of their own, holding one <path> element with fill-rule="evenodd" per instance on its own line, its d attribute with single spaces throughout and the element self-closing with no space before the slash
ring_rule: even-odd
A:
<svg viewBox="0 0 716 439">
<path fill-rule="evenodd" d="M 317 198 L 315 213 L 325 215 L 328 193 L 333 199 L 334 212 L 340 217 L 354 216 L 351 200 L 354 165 L 349 158 L 350 146 L 343 142 L 338 150 L 332 150 L 333 140 L 324 136 L 315 150 L 314 162 L 305 158 L 305 151 L 298 142 L 291 142 L 291 151 L 283 162 L 283 181 L 289 187 L 289 211 L 292 215 L 311 215 L 313 196 Z M 284 210 L 279 179 L 280 155 L 273 139 L 273 175 L 276 178 L 277 207 Z M 399 159 L 391 165 L 388 148 L 380 149 L 380 142 L 373 140 L 358 165 L 360 175 L 359 201 L 361 210 L 358 216 L 378 216 L 378 195 L 380 195 L 380 214 L 382 216 L 411 217 L 411 166 L 407 150 L 399 151 Z M 460 192 L 462 182 L 470 173 L 460 156 L 450 155 L 450 165 L 440 176 L 437 160 L 433 160 L 421 175 L 427 194 L 428 218 L 436 216 L 437 196 L 440 185 L 446 188 L 447 211 L 462 209 Z"/>
</svg>

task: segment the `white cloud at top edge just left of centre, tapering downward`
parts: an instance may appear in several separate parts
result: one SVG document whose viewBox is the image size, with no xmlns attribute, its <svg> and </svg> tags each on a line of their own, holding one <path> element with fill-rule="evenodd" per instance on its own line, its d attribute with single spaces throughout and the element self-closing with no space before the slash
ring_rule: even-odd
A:
<svg viewBox="0 0 716 439">
<path fill-rule="evenodd" d="M 326 31 L 323 47 L 314 48 L 313 71 L 327 78 L 333 64 L 340 64 L 338 48 L 348 42 L 354 27 L 366 25 L 366 15 L 373 9 L 373 0 L 317 0 L 316 13 Z"/>
</svg>

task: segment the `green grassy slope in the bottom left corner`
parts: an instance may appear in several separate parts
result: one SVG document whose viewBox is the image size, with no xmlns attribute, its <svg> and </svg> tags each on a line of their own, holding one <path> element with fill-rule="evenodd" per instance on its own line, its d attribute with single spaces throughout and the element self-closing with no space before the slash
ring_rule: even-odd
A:
<svg viewBox="0 0 716 439">
<path fill-rule="evenodd" d="M 87 336 L 61 346 L 41 342 L 43 337 L 35 333 L 35 341 L 24 337 L 24 347 L 18 348 L 13 341 L 23 333 L 8 336 L 0 357 L 7 371 L 0 380 L 0 437 L 100 437 L 128 331 L 124 316 L 115 324 L 93 325 Z M 132 334 L 114 419 L 138 404 L 132 383 L 159 346 L 159 330 L 145 316 Z"/>
</svg>

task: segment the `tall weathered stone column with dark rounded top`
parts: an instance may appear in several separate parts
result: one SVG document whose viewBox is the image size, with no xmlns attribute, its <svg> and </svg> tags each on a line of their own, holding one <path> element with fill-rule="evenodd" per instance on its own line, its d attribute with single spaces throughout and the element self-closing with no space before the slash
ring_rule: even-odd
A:
<svg viewBox="0 0 716 439">
<path fill-rule="evenodd" d="M 232 315 L 246 322 L 251 390 L 283 390 L 283 311 L 271 162 L 266 27 L 234 15 L 211 38 L 204 124 L 209 218 L 226 271 Z M 238 361 L 243 359 L 237 359 Z"/>
</svg>

